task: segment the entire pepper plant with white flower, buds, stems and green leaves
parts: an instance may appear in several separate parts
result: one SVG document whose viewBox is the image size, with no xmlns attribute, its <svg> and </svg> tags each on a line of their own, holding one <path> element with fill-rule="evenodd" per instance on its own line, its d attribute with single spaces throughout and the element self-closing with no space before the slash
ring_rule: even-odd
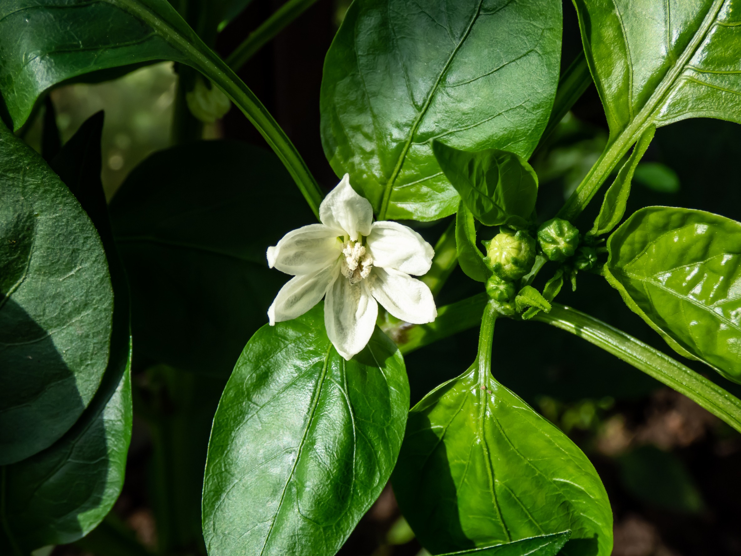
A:
<svg viewBox="0 0 741 556">
<path fill-rule="evenodd" d="M 658 127 L 741 123 L 739 2 L 575 0 L 583 53 L 562 64 L 559 0 L 354 0 L 322 80 L 322 145 L 344 176 L 326 196 L 235 73 L 312 1 L 289 0 L 222 60 L 216 35 L 247 3 L 0 3 L 2 554 L 73 542 L 110 511 L 140 359 L 183 391 L 173 369 L 230 371 L 205 471 L 195 460 L 193 542 L 210 556 L 333 555 L 389 480 L 433 554 L 610 555 L 602 481 L 498 382 L 495 324 L 571 332 L 741 431 L 741 400 L 681 363 L 741 383 L 741 224 L 665 206 L 625 218 Z M 230 101 L 273 154 L 186 142 L 106 205 L 102 115 L 41 155 L 19 138 L 53 87 L 159 60 L 177 64 L 184 121 Z M 605 150 L 557 213 L 536 214 L 528 160 L 593 81 Z M 445 218 L 435 245 L 415 231 Z M 480 293 L 436 306 L 456 265 Z M 294 276 L 280 290 L 278 271 Z M 584 273 L 677 358 L 560 305 Z M 410 409 L 404 355 L 474 327 L 459 376 Z"/>
</svg>

